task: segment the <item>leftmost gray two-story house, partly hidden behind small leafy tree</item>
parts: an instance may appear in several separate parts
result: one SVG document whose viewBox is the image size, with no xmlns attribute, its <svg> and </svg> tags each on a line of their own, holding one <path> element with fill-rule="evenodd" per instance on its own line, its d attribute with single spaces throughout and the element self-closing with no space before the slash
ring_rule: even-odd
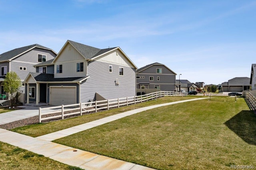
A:
<svg viewBox="0 0 256 170">
<path fill-rule="evenodd" d="M 57 53 L 52 49 L 39 44 L 16 48 L 0 54 L 0 93 L 5 93 L 2 82 L 7 72 L 16 72 L 21 81 L 24 81 L 29 72 L 36 71 L 35 64 L 54 59 L 56 55 Z M 19 91 L 25 93 L 25 87 L 20 87 Z"/>
</svg>

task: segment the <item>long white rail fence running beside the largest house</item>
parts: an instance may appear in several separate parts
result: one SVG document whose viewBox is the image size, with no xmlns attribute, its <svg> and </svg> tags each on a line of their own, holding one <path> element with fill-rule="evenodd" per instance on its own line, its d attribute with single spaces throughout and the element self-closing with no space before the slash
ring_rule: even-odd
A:
<svg viewBox="0 0 256 170">
<path fill-rule="evenodd" d="M 107 99 L 103 101 L 92 101 L 86 103 L 77 103 L 72 105 L 61 105 L 54 107 L 39 108 L 39 123 L 48 119 L 60 118 L 64 119 L 70 115 L 82 115 L 88 112 L 98 112 L 102 109 L 109 110 L 112 107 L 128 106 L 131 104 L 142 103 L 157 99 L 164 96 L 187 96 L 187 92 L 175 92 L 175 91 L 158 91 L 146 95 L 122 97 L 118 99 Z M 50 110 L 50 111 L 49 111 Z"/>
</svg>

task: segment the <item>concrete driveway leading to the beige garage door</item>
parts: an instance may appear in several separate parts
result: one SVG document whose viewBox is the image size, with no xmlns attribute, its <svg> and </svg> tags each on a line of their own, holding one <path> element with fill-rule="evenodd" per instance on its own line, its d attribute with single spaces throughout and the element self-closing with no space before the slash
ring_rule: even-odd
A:
<svg viewBox="0 0 256 170">
<path fill-rule="evenodd" d="M 34 106 L 20 106 L 20 107 L 22 107 L 23 109 L 1 113 L 0 125 L 39 115 L 39 107 L 34 107 Z M 52 106 L 48 105 L 48 106 L 40 106 L 40 107 L 45 108 L 45 107 L 52 107 Z"/>
</svg>

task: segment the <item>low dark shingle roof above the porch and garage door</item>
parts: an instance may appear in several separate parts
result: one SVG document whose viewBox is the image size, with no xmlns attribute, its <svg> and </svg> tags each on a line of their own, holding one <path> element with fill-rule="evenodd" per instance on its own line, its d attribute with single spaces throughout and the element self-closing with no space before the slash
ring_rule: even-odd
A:
<svg viewBox="0 0 256 170">
<path fill-rule="evenodd" d="M 54 74 L 45 74 L 45 73 L 31 73 L 30 74 L 34 77 L 36 81 L 45 81 L 45 82 L 53 82 L 53 81 L 74 81 L 78 82 L 86 77 L 65 77 L 65 78 L 54 78 Z"/>
</svg>

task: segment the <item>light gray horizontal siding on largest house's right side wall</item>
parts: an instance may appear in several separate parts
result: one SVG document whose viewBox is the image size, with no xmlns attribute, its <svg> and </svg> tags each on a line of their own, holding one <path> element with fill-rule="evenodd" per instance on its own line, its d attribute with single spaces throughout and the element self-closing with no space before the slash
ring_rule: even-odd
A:
<svg viewBox="0 0 256 170">
<path fill-rule="evenodd" d="M 109 72 L 109 65 L 112 65 L 112 73 Z M 124 68 L 124 75 L 119 75 L 119 67 Z M 136 95 L 135 68 L 101 61 L 90 61 L 88 62 L 88 75 L 90 78 L 80 85 L 81 102 L 94 100 L 95 93 L 100 94 L 105 99 Z M 119 85 L 116 84 L 116 79 L 118 79 Z"/>
</svg>

